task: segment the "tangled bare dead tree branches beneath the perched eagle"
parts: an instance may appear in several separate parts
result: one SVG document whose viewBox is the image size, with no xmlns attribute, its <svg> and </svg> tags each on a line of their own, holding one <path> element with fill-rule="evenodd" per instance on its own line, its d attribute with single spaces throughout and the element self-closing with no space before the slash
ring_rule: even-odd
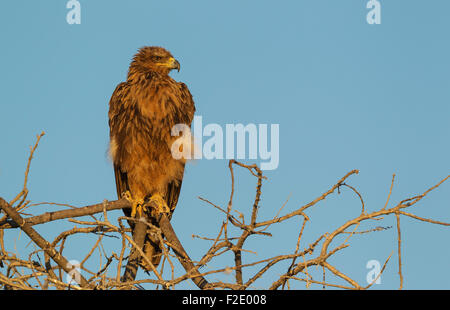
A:
<svg viewBox="0 0 450 310">
<path fill-rule="evenodd" d="M 305 283 L 307 288 L 312 284 L 316 284 L 321 285 L 323 288 L 369 289 L 381 274 L 385 272 L 385 268 L 392 254 L 386 259 L 381 272 L 368 285 L 358 283 L 346 271 L 340 270 L 337 266 L 330 263 L 330 258 L 339 255 L 343 249 L 348 248 L 353 236 L 366 236 L 390 228 L 378 225 L 366 230 L 360 229 L 362 223 L 371 223 L 373 220 L 379 221 L 388 216 L 395 216 L 396 220 L 399 288 L 401 289 L 404 287 L 404 274 L 402 270 L 402 259 L 404 258 L 402 257 L 401 251 L 402 232 L 400 218 L 404 216 L 429 224 L 436 224 L 443 227 L 450 226 L 450 223 L 420 217 L 407 210 L 422 201 L 433 190 L 440 187 L 450 176 L 443 178 L 422 194 L 403 199 L 394 206 L 389 207 L 395 182 L 395 175 L 393 175 L 386 203 L 381 208 L 369 212 L 363 196 L 357 187 L 349 184 L 351 177 L 358 174 L 358 170 L 348 172 L 337 183 L 309 203 L 283 215 L 281 212 L 287 203 L 286 201 L 273 217 L 259 220 L 262 186 L 267 178 L 257 165 L 246 165 L 231 160 L 228 166 L 231 176 L 231 189 L 227 205 L 221 206 L 206 198 L 199 197 L 208 206 L 218 210 L 224 216 L 224 219 L 222 224 L 218 225 L 218 231 L 213 237 L 193 235 L 193 237 L 203 240 L 202 242 L 210 243 L 203 255 L 201 253 L 195 253 L 196 256 L 201 258 L 199 261 L 194 261 L 184 249 L 168 217 L 164 214 L 157 219 L 157 227 L 146 221 L 125 217 L 119 217 L 117 224 L 113 224 L 109 220 L 109 212 L 130 208 L 130 203 L 126 199 L 116 201 L 105 200 L 98 204 L 80 208 L 69 206 L 69 209 L 45 212 L 40 215 L 26 217 L 23 211 L 36 205 L 30 204 L 30 201 L 27 201 L 27 182 L 31 160 L 43 135 L 44 133 L 39 135 L 34 147 L 30 148 L 30 156 L 25 170 L 24 186 L 21 192 L 10 202 L 0 198 L 0 210 L 4 212 L 4 216 L 0 219 L 0 287 L 7 289 L 47 289 L 51 286 L 56 289 L 135 289 L 144 284 L 162 286 L 164 289 L 173 289 L 175 286 L 187 280 L 193 281 L 200 289 L 249 289 L 254 287 L 256 281 L 267 276 L 268 271 L 274 266 L 282 263 L 285 263 L 286 269 L 277 278 L 270 280 L 271 284 L 269 289 L 289 289 L 294 282 Z M 245 169 L 245 171 L 250 173 L 251 178 L 256 178 L 255 196 L 252 204 L 249 206 L 250 216 L 248 218 L 244 216 L 243 210 L 239 210 L 234 205 L 234 196 L 238 190 L 235 188 L 234 169 L 236 167 Z M 358 204 L 360 203 L 361 205 L 358 215 L 345 221 L 331 232 L 323 232 L 315 236 L 312 239 L 314 241 L 311 244 L 307 244 L 304 238 L 305 232 L 311 226 L 312 222 L 310 209 L 313 207 L 324 207 L 321 202 L 333 193 L 340 193 L 342 188 L 349 189 L 355 195 L 355 198 L 358 199 Z M 102 220 L 95 217 L 98 214 L 103 215 Z M 92 220 L 82 221 L 76 219 L 83 216 L 90 216 Z M 259 260 L 254 260 L 252 256 L 249 256 L 253 255 L 250 253 L 255 253 L 253 249 L 247 247 L 247 241 L 249 239 L 271 237 L 272 233 L 270 229 L 272 227 L 275 225 L 283 225 L 283 223 L 295 217 L 299 217 L 300 224 L 298 231 L 295 232 L 296 241 L 292 245 L 292 252 L 280 253 L 273 257 Z M 136 221 L 134 232 L 130 228 L 125 227 L 122 223 L 124 219 Z M 61 231 L 51 243 L 33 229 L 34 225 L 49 225 L 50 223 L 61 220 L 68 220 L 69 223 L 78 226 Z M 161 270 L 157 270 L 148 261 L 148 258 L 145 257 L 142 250 L 144 244 L 143 236 L 145 236 L 145 232 L 148 229 L 154 230 L 163 244 L 163 263 L 161 264 Z M 12 233 L 17 230 L 23 231 L 31 239 L 33 244 L 37 246 L 32 252 L 18 253 L 19 255 L 16 255 L 16 253 L 8 250 L 8 245 L 5 243 L 6 233 Z M 133 233 L 133 236 L 130 233 Z M 92 236 L 94 238 L 93 240 L 96 241 L 93 246 L 80 249 L 86 250 L 87 254 L 81 260 L 79 266 L 72 266 L 64 257 L 63 250 L 70 247 L 72 245 L 72 238 L 80 234 Z M 103 241 L 106 237 L 114 237 L 118 241 L 117 247 L 105 248 Z M 339 237 L 342 238 L 340 239 Z M 6 240 L 9 241 L 9 239 Z M 189 252 L 192 254 L 194 251 L 190 249 Z M 43 261 L 40 259 L 40 253 L 44 254 Z M 97 256 L 100 259 L 100 263 L 95 264 L 95 267 L 91 268 L 88 266 L 88 261 L 92 260 L 95 256 L 94 253 L 99 253 Z M 126 256 L 127 253 L 128 256 Z M 218 257 L 226 253 L 230 253 L 233 258 L 229 266 L 210 267 Z M 174 265 L 172 262 L 174 257 L 178 260 L 182 268 L 179 268 L 179 266 L 177 268 Z M 103 263 L 103 259 L 106 260 L 105 263 Z M 148 265 L 153 267 L 153 272 L 149 273 L 148 277 L 144 279 L 136 279 L 139 259 L 145 259 Z M 51 260 L 56 265 L 52 266 Z M 125 261 L 127 262 L 126 266 L 122 266 Z M 166 264 L 164 264 L 165 262 Z M 200 270 L 204 266 L 208 266 L 208 268 L 201 272 Z M 313 269 L 311 267 L 314 266 L 322 270 L 321 280 L 314 279 L 314 274 L 311 271 Z M 1 272 L 2 269 L 5 269 L 6 272 Z M 170 269 L 170 277 L 167 276 L 167 269 Z M 116 272 L 111 275 L 111 270 L 115 270 Z M 80 275 L 76 280 L 77 284 L 72 282 L 67 283 L 64 280 L 64 274 L 73 274 L 74 272 Z M 87 276 L 81 276 L 81 272 Z M 122 272 L 123 276 L 121 276 Z M 207 278 L 215 279 L 221 274 L 229 274 L 232 272 L 234 272 L 234 280 L 231 282 L 226 282 L 222 279 L 215 280 L 215 282 L 207 280 Z M 331 275 L 331 279 L 342 280 L 345 285 L 331 283 L 329 280 L 326 281 L 325 275 L 327 273 Z"/>
</svg>

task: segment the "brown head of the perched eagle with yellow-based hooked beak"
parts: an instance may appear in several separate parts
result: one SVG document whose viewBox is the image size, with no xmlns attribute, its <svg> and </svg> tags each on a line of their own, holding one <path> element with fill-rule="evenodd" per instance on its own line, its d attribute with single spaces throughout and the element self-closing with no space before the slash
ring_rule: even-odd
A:
<svg viewBox="0 0 450 310">
<path fill-rule="evenodd" d="M 134 68 L 139 72 L 157 72 L 167 75 L 173 69 L 180 71 L 180 63 L 172 54 L 157 46 L 146 46 L 139 49 L 131 62 L 130 70 Z"/>
</svg>

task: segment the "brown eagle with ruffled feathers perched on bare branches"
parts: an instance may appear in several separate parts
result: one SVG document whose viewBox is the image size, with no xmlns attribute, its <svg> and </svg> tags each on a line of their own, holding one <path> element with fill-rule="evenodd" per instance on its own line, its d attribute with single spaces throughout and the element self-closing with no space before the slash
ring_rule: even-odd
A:
<svg viewBox="0 0 450 310">
<path fill-rule="evenodd" d="M 117 85 L 109 102 L 109 153 L 114 164 L 117 195 L 132 202 L 126 216 L 143 216 L 157 225 L 156 215 L 171 217 L 180 195 L 186 160 L 175 159 L 172 127 L 190 127 L 195 107 L 184 83 L 169 76 L 180 63 L 162 47 L 143 47 L 134 56 L 126 82 Z M 149 209 L 149 202 L 157 208 Z M 132 221 L 129 221 L 134 228 Z M 145 255 L 156 267 L 161 260 L 159 239 L 147 231 Z M 141 266 L 151 270 L 141 260 Z"/>
</svg>

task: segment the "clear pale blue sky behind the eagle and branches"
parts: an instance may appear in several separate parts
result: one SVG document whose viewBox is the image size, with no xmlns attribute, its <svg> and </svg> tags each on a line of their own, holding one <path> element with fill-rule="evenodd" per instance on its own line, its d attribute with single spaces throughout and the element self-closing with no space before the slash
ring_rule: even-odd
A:
<svg viewBox="0 0 450 310">
<path fill-rule="evenodd" d="M 365 0 L 80 0 L 80 25 L 66 22 L 66 2 L 2 3 L 0 196 L 7 200 L 20 191 L 28 147 L 42 130 L 29 182 L 33 202 L 84 206 L 116 198 L 106 155 L 108 102 L 145 45 L 164 46 L 180 61 L 181 72 L 172 77 L 189 86 L 204 123 L 279 124 L 280 164 L 266 172 L 261 219 L 274 216 L 288 197 L 283 212 L 313 200 L 352 169 L 360 174 L 349 183 L 368 210 L 384 205 L 393 173 L 395 203 L 450 172 L 446 0 L 380 1 L 380 25 L 366 22 Z M 194 258 L 208 243 L 191 235 L 211 237 L 223 220 L 197 197 L 226 205 L 227 166 L 226 160 L 200 160 L 187 167 L 172 222 Z M 250 210 L 254 179 L 245 171 L 237 178 L 235 206 Z M 444 184 L 410 211 L 450 222 L 449 189 Z M 358 214 L 350 191 L 330 197 L 312 210 L 303 244 Z M 395 218 L 371 224 L 394 228 L 355 236 L 330 262 L 365 284 L 366 263 L 384 262 L 394 251 L 375 288 L 395 289 Z M 51 238 L 67 227 L 37 228 Z M 274 226 L 272 238 L 251 238 L 248 249 L 257 255 L 245 254 L 244 261 L 292 252 L 298 229 L 295 219 Z M 404 218 L 402 233 L 404 287 L 449 289 L 448 228 Z M 21 238 L 18 246 L 28 243 L 17 233 L 7 236 L 12 243 Z M 74 239 L 66 255 L 81 259 L 80 249 L 88 252 L 92 240 Z M 107 246 L 120 250 L 113 248 L 119 243 Z M 233 261 L 228 256 L 219 263 Z M 275 268 L 255 288 L 284 270 Z"/>
</svg>

